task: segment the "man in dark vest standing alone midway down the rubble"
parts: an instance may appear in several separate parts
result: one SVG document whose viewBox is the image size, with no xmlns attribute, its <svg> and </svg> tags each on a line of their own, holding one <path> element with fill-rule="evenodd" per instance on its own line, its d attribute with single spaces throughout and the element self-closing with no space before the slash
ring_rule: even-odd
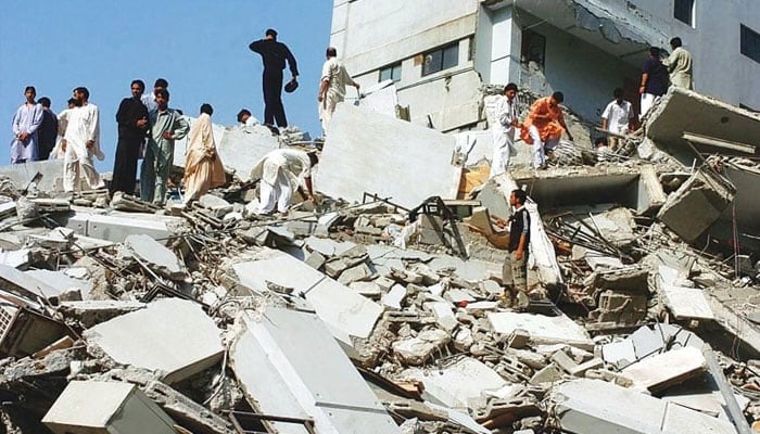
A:
<svg viewBox="0 0 760 434">
<path fill-rule="evenodd" d="M 502 282 L 515 292 L 518 306 L 528 305 L 528 246 L 531 240 L 531 216 L 525 209 L 525 192 L 517 189 L 509 194 L 515 214 L 509 218 L 509 255 L 502 269 Z M 505 294 L 506 295 L 506 294 Z"/>
</svg>

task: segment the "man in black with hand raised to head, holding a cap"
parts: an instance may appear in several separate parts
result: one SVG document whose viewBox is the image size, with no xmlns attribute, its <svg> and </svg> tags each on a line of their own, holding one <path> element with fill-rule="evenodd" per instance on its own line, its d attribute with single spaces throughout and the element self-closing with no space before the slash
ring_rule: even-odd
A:
<svg viewBox="0 0 760 434">
<path fill-rule="evenodd" d="M 277 31 L 269 28 L 266 30 L 264 39 L 251 42 L 248 46 L 251 51 L 262 55 L 264 62 L 264 74 L 262 85 L 264 88 L 264 124 L 275 125 L 282 128 L 288 126 L 288 119 L 282 106 L 282 69 L 286 61 L 292 75 L 291 81 L 295 81 L 299 76 L 299 67 L 295 58 L 290 52 L 288 46 L 277 41 Z"/>
</svg>

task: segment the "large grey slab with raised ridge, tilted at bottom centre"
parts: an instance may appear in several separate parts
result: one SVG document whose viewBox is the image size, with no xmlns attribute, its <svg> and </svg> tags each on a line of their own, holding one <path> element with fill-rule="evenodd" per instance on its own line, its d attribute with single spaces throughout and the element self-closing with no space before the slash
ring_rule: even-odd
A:
<svg viewBox="0 0 760 434">
<path fill-rule="evenodd" d="M 240 322 L 230 362 L 257 411 L 313 419 L 318 433 L 400 433 L 316 315 L 269 308 Z M 299 424 L 271 425 L 282 434 L 307 433 Z"/>
</svg>

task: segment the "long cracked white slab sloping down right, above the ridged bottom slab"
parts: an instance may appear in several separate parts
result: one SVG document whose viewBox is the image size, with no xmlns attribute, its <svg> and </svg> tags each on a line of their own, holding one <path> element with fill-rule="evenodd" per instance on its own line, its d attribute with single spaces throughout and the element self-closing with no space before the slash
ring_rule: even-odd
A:
<svg viewBox="0 0 760 434">
<path fill-rule="evenodd" d="M 305 263 L 282 252 L 267 250 L 259 260 L 235 264 L 240 283 L 254 292 L 267 290 L 267 282 L 305 294 L 319 318 L 340 342 L 351 345 L 350 336 L 366 339 L 382 314 L 382 307 L 338 283 Z"/>
</svg>

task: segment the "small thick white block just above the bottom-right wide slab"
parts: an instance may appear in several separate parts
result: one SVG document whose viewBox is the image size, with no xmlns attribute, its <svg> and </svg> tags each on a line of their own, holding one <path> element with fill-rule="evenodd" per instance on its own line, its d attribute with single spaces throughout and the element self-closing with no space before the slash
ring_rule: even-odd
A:
<svg viewBox="0 0 760 434">
<path fill-rule="evenodd" d="M 622 373 L 633 381 L 634 387 L 657 393 L 699 376 L 706 369 L 702 353 L 687 346 L 647 357 L 623 369 Z"/>
</svg>

